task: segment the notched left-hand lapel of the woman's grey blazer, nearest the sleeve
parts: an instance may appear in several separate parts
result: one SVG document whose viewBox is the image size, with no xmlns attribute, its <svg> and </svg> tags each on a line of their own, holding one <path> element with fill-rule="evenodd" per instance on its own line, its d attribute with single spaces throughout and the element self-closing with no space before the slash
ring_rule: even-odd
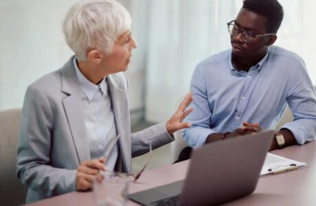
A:
<svg viewBox="0 0 316 206">
<path fill-rule="evenodd" d="M 87 130 L 84 126 L 82 113 L 81 90 L 73 64 L 73 57 L 65 64 L 62 70 L 62 91 L 69 95 L 63 100 L 63 106 L 67 115 L 69 128 L 76 147 L 78 161 L 90 159 L 89 141 Z"/>
</svg>

